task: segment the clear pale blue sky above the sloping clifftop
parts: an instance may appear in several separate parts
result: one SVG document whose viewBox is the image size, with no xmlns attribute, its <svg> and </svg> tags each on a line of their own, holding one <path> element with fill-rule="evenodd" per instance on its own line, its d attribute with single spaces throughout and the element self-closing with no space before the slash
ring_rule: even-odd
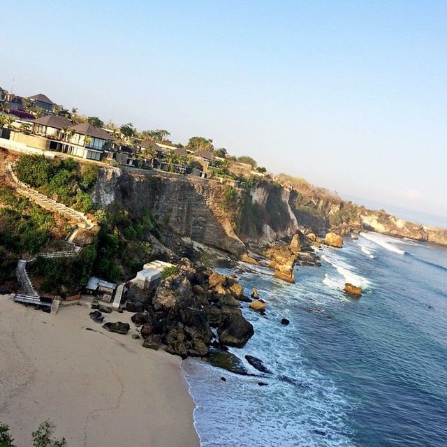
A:
<svg viewBox="0 0 447 447">
<path fill-rule="evenodd" d="M 0 85 L 444 218 L 446 1 L 1 2 Z"/>
</svg>

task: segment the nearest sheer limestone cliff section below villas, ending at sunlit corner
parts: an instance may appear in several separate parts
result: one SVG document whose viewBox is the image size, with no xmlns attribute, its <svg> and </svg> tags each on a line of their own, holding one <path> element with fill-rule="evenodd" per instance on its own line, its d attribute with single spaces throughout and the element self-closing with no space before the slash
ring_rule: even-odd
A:
<svg viewBox="0 0 447 447">
<path fill-rule="evenodd" d="M 245 245 L 232 227 L 233 215 L 224 206 L 226 186 L 191 177 L 104 171 L 94 194 L 99 205 L 107 207 L 116 200 L 128 210 L 147 207 L 178 235 L 244 253 Z"/>
</svg>

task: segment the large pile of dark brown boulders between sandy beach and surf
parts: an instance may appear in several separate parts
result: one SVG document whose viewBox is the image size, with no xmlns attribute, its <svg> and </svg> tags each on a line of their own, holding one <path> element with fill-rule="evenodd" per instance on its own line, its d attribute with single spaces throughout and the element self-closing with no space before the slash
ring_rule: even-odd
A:
<svg viewBox="0 0 447 447">
<path fill-rule="evenodd" d="M 242 347 L 254 329 L 240 310 L 244 288 L 233 278 L 206 268 L 195 268 L 183 258 L 178 271 L 163 279 L 145 301 L 145 311 L 132 316 L 141 326 L 143 346 L 182 358 L 207 356 L 217 329 L 219 345 Z"/>
</svg>

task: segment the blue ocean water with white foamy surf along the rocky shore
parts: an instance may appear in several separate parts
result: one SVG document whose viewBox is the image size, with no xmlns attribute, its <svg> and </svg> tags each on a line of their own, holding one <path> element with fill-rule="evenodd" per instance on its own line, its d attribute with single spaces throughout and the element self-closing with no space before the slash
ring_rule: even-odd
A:
<svg viewBox="0 0 447 447">
<path fill-rule="evenodd" d="M 447 446 L 447 249 L 367 233 L 321 255 L 296 284 L 263 269 L 239 276 L 268 312 L 244 307 L 256 333 L 233 353 L 272 374 L 182 363 L 201 445 Z M 342 293 L 346 281 L 365 289 L 360 300 Z"/>
</svg>

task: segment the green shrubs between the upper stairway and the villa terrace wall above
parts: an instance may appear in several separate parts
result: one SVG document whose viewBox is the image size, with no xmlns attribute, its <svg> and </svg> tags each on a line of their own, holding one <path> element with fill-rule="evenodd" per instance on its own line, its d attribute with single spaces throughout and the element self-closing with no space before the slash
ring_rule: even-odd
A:
<svg viewBox="0 0 447 447">
<path fill-rule="evenodd" d="M 15 165 L 15 173 L 22 182 L 75 210 L 95 210 L 87 191 L 98 178 L 96 165 L 81 168 L 73 159 L 50 160 L 44 156 L 23 155 Z"/>
</svg>

